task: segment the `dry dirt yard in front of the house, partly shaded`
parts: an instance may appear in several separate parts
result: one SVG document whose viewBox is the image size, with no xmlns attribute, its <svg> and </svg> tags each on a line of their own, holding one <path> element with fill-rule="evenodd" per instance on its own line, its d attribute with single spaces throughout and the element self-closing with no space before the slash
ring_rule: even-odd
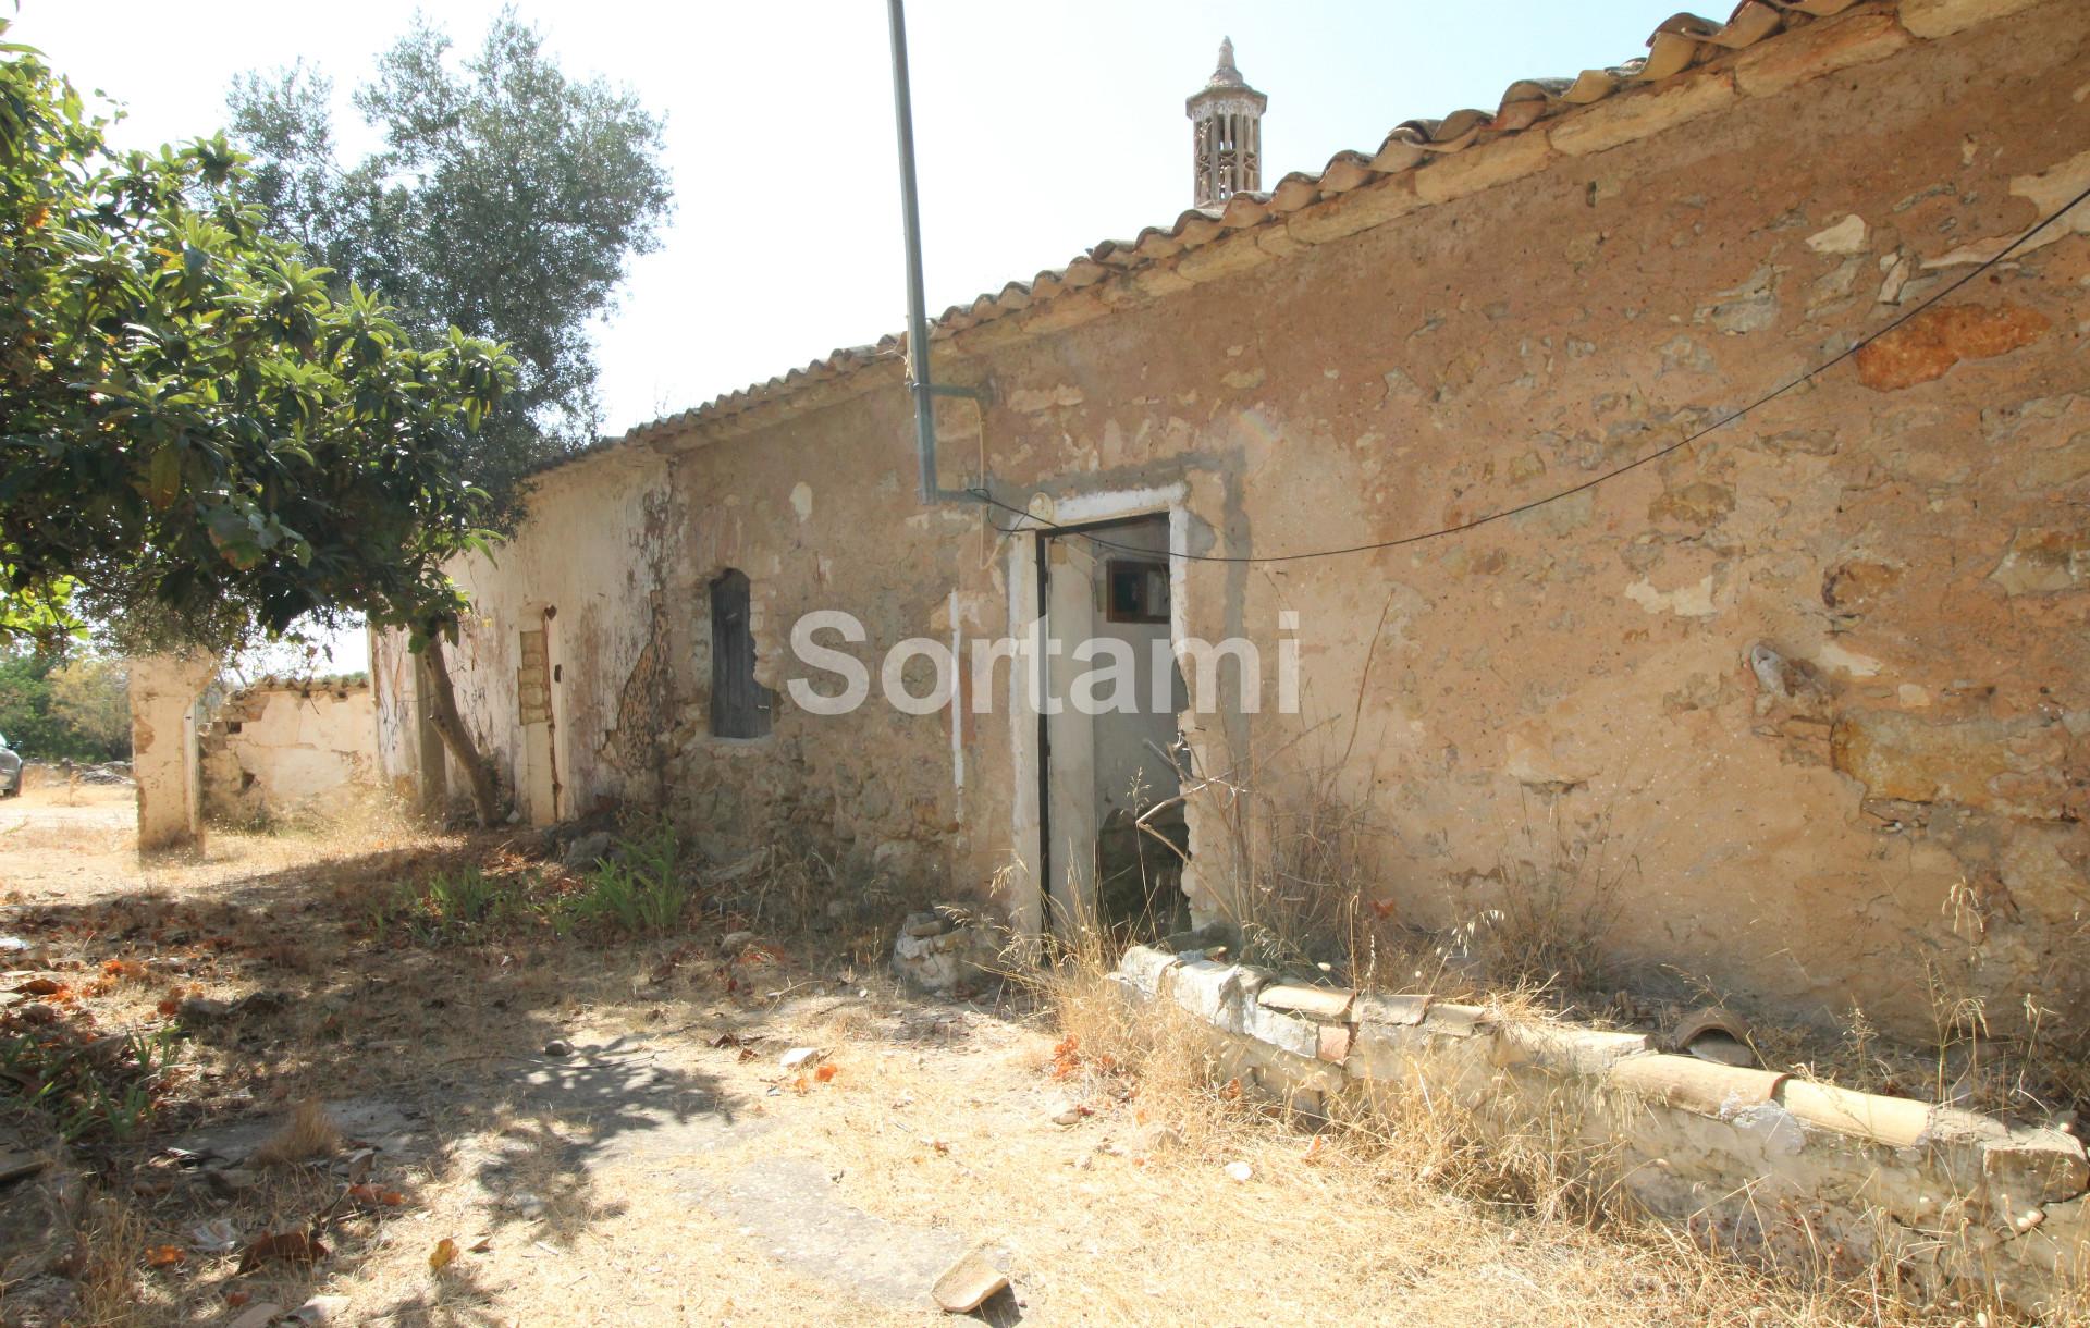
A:
<svg viewBox="0 0 2090 1328">
<path fill-rule="evenodd" d="M 1856 1303 L 1158 1096 L 1022 993 L 899 991 L 876 960 L 895 918 L 872 945 L 748 937 L 702 899 L 650 941 L 378 922 L 397 883 L 460 864 L 558 874 L 516 847 L 372 824 L 140 866 L 130 791 L 0 805 L 0 1046 L 171 1046 L 150 1115 L 71 1148 L 0 1079 L 0 1161 L 48 1163 L 0 1182 L 0 1322 L 926 1324 L 974 1249 L 1012 1278 L 976 1315 L 995 1324 Z M 282 1138 L 311 1100 L 326 1121 Z"/>
</svg>

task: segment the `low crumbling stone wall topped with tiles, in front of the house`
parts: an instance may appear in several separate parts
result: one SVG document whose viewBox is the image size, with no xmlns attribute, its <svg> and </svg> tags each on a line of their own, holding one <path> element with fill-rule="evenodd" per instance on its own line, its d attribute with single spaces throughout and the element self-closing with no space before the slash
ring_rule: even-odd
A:
<svg viewBox="0 0 2090 1328">
<path fill-rule="evenodd" d="M 2057 1129 L 1653 1050 L 1641 1033 L 1279 983 L 1135 945 L 1116 981 L 1208 1025 L 1221 1071 L 1315 1111 L 1425 1087 L 1505 1131 L 1549 1121 L 1649 1211 L 1810 1265 L 1881 1255 L 1933 1292 L 1979 1282 L 2034 1313 L 2090 1269 L 2090 1161 Z"/>
</svg>

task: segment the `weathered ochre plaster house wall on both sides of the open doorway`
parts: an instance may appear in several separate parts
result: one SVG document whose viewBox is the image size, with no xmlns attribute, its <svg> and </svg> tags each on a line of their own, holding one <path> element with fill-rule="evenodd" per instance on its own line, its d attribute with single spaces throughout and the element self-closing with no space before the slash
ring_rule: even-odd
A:
<svg viewBox="0 0 2090 1328">
<path fill-rule="evenodd" d="M 1925 6 L 1937 10 L 1937 4 Z M 1950 6 L 1948 6 L 1950 8 Z M 1958 4 L 1977 15 L 1979 4 Z M 2006 8 L 2006 6 L 1990 6 Z M 1933 27 L 1935 31 L 1935 27 Z M 1191 552 L 1294 552 L 1459 525 L 1680 439 L 1883 326 L 2090 182 L 2090 10 L 1914 40 L 1881 8 L 1779 38 L 1540 134 L 947 339 L 945 483 L 1060 498 L 1185 485 Z M 2071 184 L 2073 182 L 2073 184 Z M 1856 217 L 1856 222 L 1852 220 Z M 1367 224 L 1369 222 L 1369 224 Z M 1277 801 L 1338 768 L 1381 891 L 1459 924 L 1511 880 L 1616 880 L 1597 943 L 1760 1008 L 1862 1006 L 1929 1031 L 1925 972 L 1990 1000 L 2082 987 L 2090 728 L 2090 243 L 2013 257 L 1896 345 L 1593 491 L 1411 548 L 1193 563 L 1185 627 L 1275 650 L 1304 709 L 1193 722 L 1204 770 Z M 1296 253 L 1285 261 L 1279 255 Z M 763 678 L 792 619 L 1001 632 L 1012 558 L 918 506 L 897 368 L 688 439 L 675 602 L 740 567 Z M 1005 521 L 1005 514 L 997 514 Z M 1005 705 L 700 730 L 700 611 L 677 797 L 721 834 L 771 816 L 978 885 L 1005 864 Z M 1225 676 L 1223 676 L 1225 686 Z M 1193 692 L 1198 690 L 1191 680 Z M 1358 701 L 1363 705 L 1358 705 Z M 1344 761 L 1344 757 L 1348 757 Z M 1218 908 L 1216 826 L 1193 811 Z M 1519 866 L 1524 864 L 1524 866 Z"/>
</svg>

